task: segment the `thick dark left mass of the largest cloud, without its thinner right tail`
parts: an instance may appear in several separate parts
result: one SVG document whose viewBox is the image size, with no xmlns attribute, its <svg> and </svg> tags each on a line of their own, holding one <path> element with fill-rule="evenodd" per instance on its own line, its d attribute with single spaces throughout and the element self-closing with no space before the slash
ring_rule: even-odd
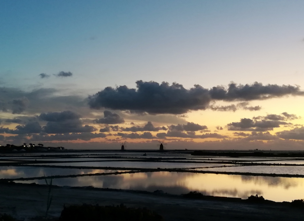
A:
<svg viewBox="0 0 304 221">
<path fill-rule="evenodd" d="M 208 90 L 199 85 L 190 90 L 177 83 L 169 86 L 166 82 L 160 85 L 153 81 L 136 81 L 136 85 L 137 90 L 127 86 L 107 87 L 90 96 L 89 105 L 93 109 L 104 107 L 151 114 L 181 114 L 189 109 L 206 109 L 210 101 Z"/>
</svg>

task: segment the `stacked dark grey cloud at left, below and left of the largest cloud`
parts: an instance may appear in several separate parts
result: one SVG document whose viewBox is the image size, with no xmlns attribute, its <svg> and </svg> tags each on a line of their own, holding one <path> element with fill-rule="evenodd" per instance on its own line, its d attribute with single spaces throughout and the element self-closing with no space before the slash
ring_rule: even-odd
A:
<svg viewBox="0 0 304 221">
<path fill-rule="evenodd" d="M 96 131 L 95 127 L 82 125 L 80 115 L 72 111 L 42 113 L 39 119 L 48 121 L 43 127 L 45 133 L 82 133 Z"/>
</svg>

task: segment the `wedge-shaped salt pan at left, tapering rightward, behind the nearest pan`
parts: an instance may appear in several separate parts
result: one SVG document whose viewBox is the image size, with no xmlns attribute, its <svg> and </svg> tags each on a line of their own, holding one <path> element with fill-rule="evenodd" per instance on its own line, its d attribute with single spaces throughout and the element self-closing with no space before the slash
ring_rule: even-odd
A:
<svg viewBox="0 0 304 221">
<path fill-rule="evenodd" d="M 0 179 L 43 177 L 44 175 L 45 176 L 52 176 L 52 175 L 55 176 L 55 175 L 112 173 L 112 172 L 117 172 L 117 171 L 118 170 L 8 166 L 8 167 L 0 167 Z"/>
</svg>

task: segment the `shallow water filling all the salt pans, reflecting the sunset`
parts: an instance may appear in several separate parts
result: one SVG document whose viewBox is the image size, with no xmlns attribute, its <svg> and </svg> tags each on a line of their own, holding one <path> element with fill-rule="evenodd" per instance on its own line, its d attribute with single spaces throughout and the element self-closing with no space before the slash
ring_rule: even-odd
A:
<svg viewBox="0 0 304 221">
<path fill-rule="evenodd" d="M 302 158 L 275 158 L 275 157 L 211 157 L 211 156 L 191 156 L 185 153 L 147 153 L 143 152 L 79 152 L 79 153 L 25 153 L 0 155 L 2 163 L 10 163 L 18 160 L 33 162 L 37 161 L 57 161 L 55 163 L 42 163 L 42 165 L 61 165 L 61 166 L 88 166 L 88 167 L 128 167 L 128 168 L 196 168 L 196 167 L 217 167 L 201 168 L 202 171 L 227 171 L 227 172 L 250 172 L 267 174 L 301 174 L 304 175 L 303 166 L 271 166 L 274 163 L 282 164 L 303 164 Z M 57 156 L 55 156 L 57 155 Z M 59 155 L 59 157 L 58 157 Z M 72 158 L 70 158 L 69 156 Z M 79 156 L 79 157 L 77 157 Z M 121 157 L 121 158 L 102 158 L 102 157 Z M 43 157 L 43 158 L 42 158 Z M 62 158 L 61 158 L 62 157 Z M 101 157 L 101 158 L 98 158 Z M 168 162 L 142 162 L 133 161 L 135 158 L 178 158 Z M 2 159 L 2 160 L 1 160 Z M 209 160 L 208 160 L 209 159 Z M 211 160 L 212 159 L 212 160 Z M 295 160 L 294 160 L 295 159 Z M 7 160 L 7 161 L 5 161 Z M 93 161 L 104 162 L 93 162 Z M 123 161 L 125 160 L 125 161 Z M 136 159 L 134 159 L 136 160 Z M 144 159 L 143 159 L 144 160 Z M 275 160 L 275 161 L 273 161 Z M 62 163 L 62 161 L 70 161 Z M 87 161 L 87 162 L 78 162 Z M 147 159 L 149 161 L 149 159 Z M 184 161 L 177 163 L 176 161 Z M 188 163 L 187 161 L 195 161 Z M 209 162 L 225 161 L 223 164 L 212 164 Z M 230 166 L 237 162 L 269 163 L 263 166 Z M 19 161 L 20 162 L 20 161 Z M 26 162 L 24 163 L 26 164 Z M 36 164 L 36 163 L 35 163 Z M 39 163 L 40 164 L 40 163 Z M 13 164 L 12 164 L 13 165 Z M 77 174 L 96 174 L 106 172 L 116 172 L 117 170 L 95 170 L 95 169 L 71 169 L 71 168 L 52 168 L 52 167 L 28 167 L 28 166 L 9 166 L 0 167 L 0 178 L 31 178 L 43 177 L 44 175 L 77 175 Z M 31 181 L 23 181 L 32 183 Z M 36 183 L 45 184 L 44 180 L 36 180 Z M 132 190 L 155 191 L 157 189 L 164 192 L 181 194 L 189 191 L 199 191 L 207 195 L 241 197 L 246 199 L 251 194 L 263 195 L 265 199 L 274 201 L 291 201 L 304 198 L 304 178 L 283 178 L 283 177 L 263 177 L 263 176 L 240 176 L 226 174 L 195 174 L 177 172 L 154 172 L 154 173 L 135 173 L 105 176 L 86 176 L 77 178 L 56 178 L 53 180 L 55 185 L 60 186 L 91 186 L 103 188 L 121 188 Z"/>
</svg>

